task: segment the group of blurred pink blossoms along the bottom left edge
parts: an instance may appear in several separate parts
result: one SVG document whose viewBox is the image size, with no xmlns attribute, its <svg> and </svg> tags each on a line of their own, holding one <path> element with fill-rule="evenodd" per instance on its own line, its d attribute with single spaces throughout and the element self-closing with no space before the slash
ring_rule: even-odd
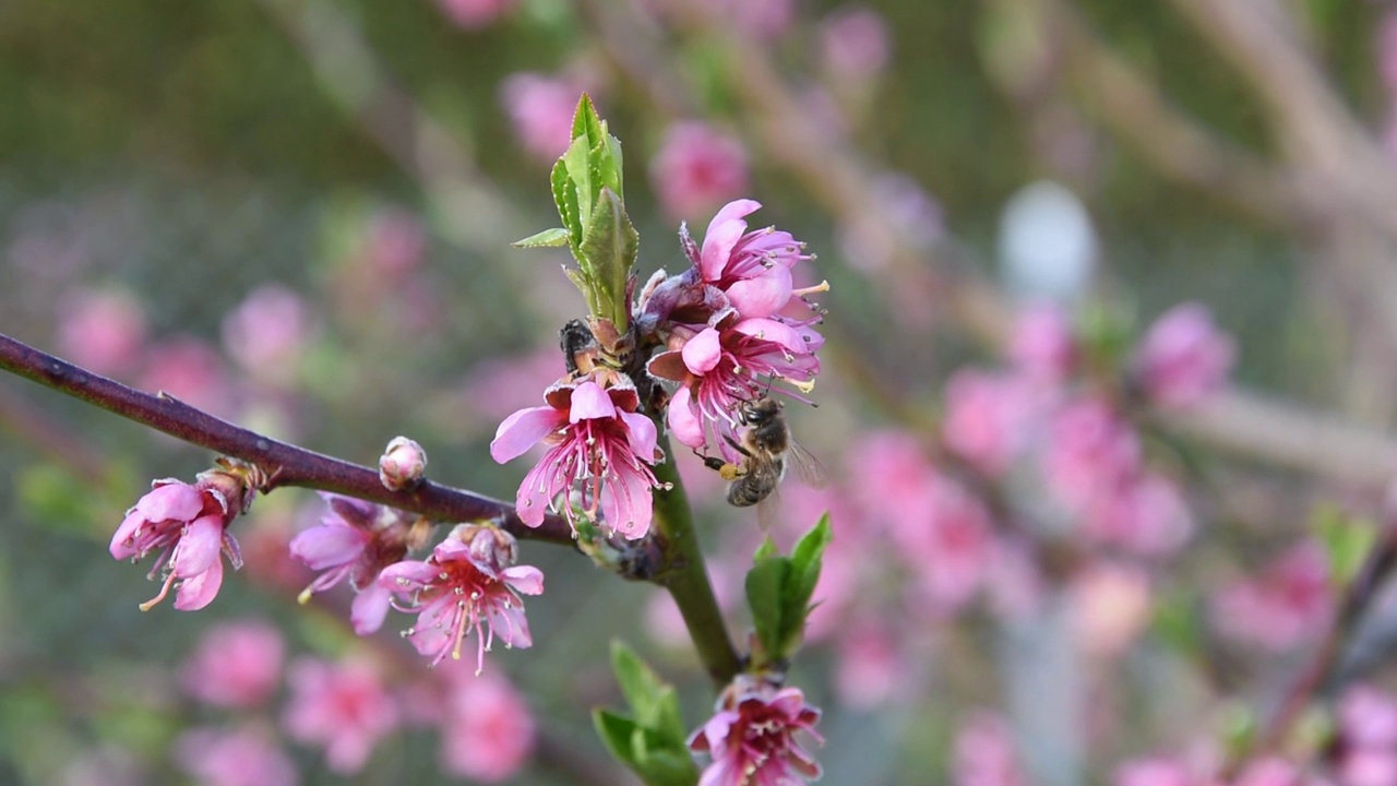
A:
<svg viewBox="0 0 1397 786">
<path fill-rule="evenodd" d="M 404 726 L 436 727 L 443 771 L 476 782 L 513 778 L 532 752 L 534 719 L 499 674 L 388 669 L 367 650 L 338 662 L 302 656 L 288 666 L 285 649 L 275 627 L 240 620 L 211 628 L 186 662 L 186 694 L 233 713 L 228 724 L 198 727 L 176 741 L 176 764 L 198 783 L 298 783 L 274 727 L 321 748 L 327 766 L 344 776 L 362 772 L 379 744 Z M 279 712 L 270 712 L 284 678 L 285 699 Z"/>
</svg>

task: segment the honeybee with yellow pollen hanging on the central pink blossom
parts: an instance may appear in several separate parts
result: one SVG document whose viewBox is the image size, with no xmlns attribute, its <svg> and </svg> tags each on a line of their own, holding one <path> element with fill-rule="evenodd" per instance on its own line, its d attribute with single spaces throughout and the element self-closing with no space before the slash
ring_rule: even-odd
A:
<svg viewBox="0 0 1397 786">
<path fill-rule="evenodd" d="M 800 483 L 823 488 L 827 483 L 824 467 L 791 436 L 791 427 L 782 414 L 781 401 L 763 394 L 738 406 L 738 424 L 746 427 L 742 442 L 724 436 L 742 456 L 733 464 L 714 456 L 704 456 L 704 464 L 717 470 L 728 485 L 728 503 L 738 508 L 757 505 L 757 520 L 767 530 L 774 516 L 774 494 L 787 469 L 793 467 Z"/>
</svg>

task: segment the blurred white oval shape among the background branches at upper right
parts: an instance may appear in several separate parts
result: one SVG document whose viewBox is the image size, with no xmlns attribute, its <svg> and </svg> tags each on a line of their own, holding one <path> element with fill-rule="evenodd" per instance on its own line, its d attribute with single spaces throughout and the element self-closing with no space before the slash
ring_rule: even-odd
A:
<svg viewBox="0 0 1397 786">
<path fill-rule="evenodd" d="M 1038 180 L 1010 197 L 999 221 L 1004 287 L 1018 299 L 1076 301 L 1097 262 L 1091 217 L 1060 183 Z"/>
</svg>

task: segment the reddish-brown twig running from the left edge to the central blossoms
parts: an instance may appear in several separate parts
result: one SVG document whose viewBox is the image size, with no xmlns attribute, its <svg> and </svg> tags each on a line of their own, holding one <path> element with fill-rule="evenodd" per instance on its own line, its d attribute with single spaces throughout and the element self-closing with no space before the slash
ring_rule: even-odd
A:
<svg viewBox="0 0 1397 786">
<path fill-rule="evenodd" d="M 514 505 L 471 491 L 432 481 L 425 481 L 411 491 L 388 491 L 374 469 L 278 442 L 163 393 L 154 396 L 142 393 L 4 334 L 0 334 L 0 369 L 191 445 L 257 464 L 271 477 L 264 492 L 278 487 L 317 488 L 443 522 L 489 519 L 500 522 L 518 538 L 574 545 L 571 527 L 560 516 L 548 516 L 541 527 L 531 529 L 518 519 Z"/>
</svg>

